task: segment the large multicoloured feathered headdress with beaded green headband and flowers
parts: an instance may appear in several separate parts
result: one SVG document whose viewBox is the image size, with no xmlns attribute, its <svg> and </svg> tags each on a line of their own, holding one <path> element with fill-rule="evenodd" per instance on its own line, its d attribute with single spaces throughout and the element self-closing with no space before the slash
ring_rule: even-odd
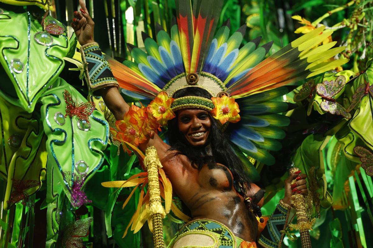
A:
<svg viewBox="0 0 373 248">
<path fill-rule="evenodd" d="M 330 60 L 344 50 L 332 48 L 336 42 L 319 46 L 332 33 L 325 26 L 264 59 L 272 42 L 258 46 L 260 38 L 256 38 L 241 46 L 245 26 L 229 36 L 229 20 L 216 30 L 222 3 L 176 1 L 177 25 L 172 26 L 170 35 L 157 26 L 157 42 L 143 34 L 146 52 L 128 46 L 134 62 L 109 62 L 120 87 L 158 103 L 172 102 L 168 104 L 171 110 L 206 109 L 222 124 L 241 119 L 235 124 L 231 141 L 245 154 L 270 165 L 274 158 L 268 151 L 279 150 L 281 145 L 276 139 L 285 136 L 279 126 L 289 123 L 278 114 L 288 110 L 289 104 L 273 101 L 288 93 L 281 86 L 324 73 L 348 60 Z M 172 99 L 175 91 L 185 87 L 204 88 L 213 97 Z M 160 115 L 157 119 L 162 119 L 168 109 L 162 104 L 154 105 L 154 113 Z"/>
</svg>

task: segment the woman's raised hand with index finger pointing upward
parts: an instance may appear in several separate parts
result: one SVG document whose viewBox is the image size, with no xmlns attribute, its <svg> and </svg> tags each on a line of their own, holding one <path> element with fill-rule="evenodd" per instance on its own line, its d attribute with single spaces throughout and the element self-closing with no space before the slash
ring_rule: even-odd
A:
<svg viewBox="0 0 373 248">
<path fill-rule="evenodd" d="M 88 13 L 87 7 L 83 0 L 79 0 L 81 12 L 74 11 L 75 18 L 73 22 L 70 23 L 72 28 L 74 29 L 76 38 L 80 45 L 85 45 L 91 42 L 94 42 L 93 38 L 93 30 L 94 30 L 94 22 Z"/>
</svg>

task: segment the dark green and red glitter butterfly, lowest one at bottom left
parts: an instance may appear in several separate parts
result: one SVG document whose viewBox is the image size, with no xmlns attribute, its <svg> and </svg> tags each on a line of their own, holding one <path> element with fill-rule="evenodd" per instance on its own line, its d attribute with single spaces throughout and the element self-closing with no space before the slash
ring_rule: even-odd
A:
<svg viewBox="0 0 373 248">
<path fill-rule="evenodd" d="M 82 248 L 83 237 L 87 237 L 93 218 L 76 220 L 70 222 L 65 227 L 65 234 L 63 235 L 63 244 L 66 248 Z"/>
</svg>

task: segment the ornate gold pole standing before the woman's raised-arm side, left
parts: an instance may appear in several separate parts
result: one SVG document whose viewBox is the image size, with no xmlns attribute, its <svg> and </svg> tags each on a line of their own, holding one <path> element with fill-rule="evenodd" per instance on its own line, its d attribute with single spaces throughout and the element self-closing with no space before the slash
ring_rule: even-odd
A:
<svg viewBox="0 0 373 248">
<path fill-rule="evenodd" d="M 149 203 L 150 203 L 150 215 L 153 220 L 153 239 L 155 248 L 164 248 L 163 240 L 163 218 L 166 216 L 166 212 L 162 206 L 158 169 L 162 168 L 162 164 L 159 161 L 157 155 L 157 149 L 154 146 L 146 148 L 144 158 L 144 165 L 148 171 L 148 185 L 149 185 Z"/>
</svg>

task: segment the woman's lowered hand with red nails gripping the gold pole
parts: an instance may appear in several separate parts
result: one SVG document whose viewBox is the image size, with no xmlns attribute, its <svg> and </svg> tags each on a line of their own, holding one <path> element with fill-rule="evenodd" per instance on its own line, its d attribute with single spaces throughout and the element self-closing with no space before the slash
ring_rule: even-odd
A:
<svg viewBox="0 0 373 248">
<path fill-rule="evenodd" d="M 301 171 L 291 173 L 288 178 L 285 180 L 285 197 L 282 201 L 286 204 L 291 205 L 291 196 L 292 194 L 307 194 L 307 178 L 306 174 L 301 174 Z M 296 180 L 294 184 L 291 184 L 293 180 Z"/>
</svg>

